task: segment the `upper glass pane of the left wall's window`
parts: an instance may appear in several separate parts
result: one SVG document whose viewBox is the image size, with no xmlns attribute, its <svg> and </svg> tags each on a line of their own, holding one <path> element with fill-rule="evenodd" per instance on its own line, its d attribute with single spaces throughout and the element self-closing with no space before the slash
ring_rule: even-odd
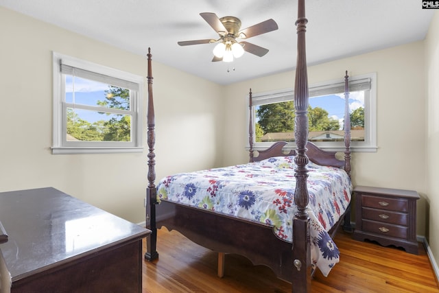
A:
<svg viewBox="0 0 439 293">
<path fill-rule="evenodd" d="M 130 110 L 130 90 L 78 76 L 65 75 L 66 102 Z"/>
</svg>

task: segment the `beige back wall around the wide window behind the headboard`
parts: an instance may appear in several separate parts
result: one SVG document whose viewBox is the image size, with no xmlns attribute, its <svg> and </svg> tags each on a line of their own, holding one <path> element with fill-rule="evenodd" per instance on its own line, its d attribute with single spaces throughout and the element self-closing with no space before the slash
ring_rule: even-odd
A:
<svg viewBox="0 0 439 293">
<path fill-rule="evenodd" d="M 418 191 L 418 235 L 425 235 L 425 72 L 423 42 L 375 51 L 311 66 L 309 84 L 377 73 L 377 152 L 353 154 L 353 183 Z M 280 73 L 227 87 L 224 163 L 248 161 L 244 150 L 249 88 L 253 93 L 294 87 L 294 72 Z M 241 126 L 241 128 L 239 128 Z"/>
</svg>

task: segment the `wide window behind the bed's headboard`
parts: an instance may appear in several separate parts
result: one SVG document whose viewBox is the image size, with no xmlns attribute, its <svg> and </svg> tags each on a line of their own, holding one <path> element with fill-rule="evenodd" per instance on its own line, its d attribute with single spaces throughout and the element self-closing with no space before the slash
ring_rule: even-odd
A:
<svg viewBox="0 0 439 293">
<path fill-rule="evenodd" d="M 375 152 L 376 74 L 351 77 L 349 113 L 353 151 Z M 252 95 L 254 148 L 273 141 L 294 142 L 294 93 L 292 89 Z M 320 148 L 344 150 L 344 80 L 309 86 L 308 140 Z"/>
</svg>

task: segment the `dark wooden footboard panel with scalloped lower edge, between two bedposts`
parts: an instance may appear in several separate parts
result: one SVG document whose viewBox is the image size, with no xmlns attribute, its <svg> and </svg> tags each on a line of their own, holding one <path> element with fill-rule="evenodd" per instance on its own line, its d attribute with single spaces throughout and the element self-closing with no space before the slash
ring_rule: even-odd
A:
<svg viewBox="0 0 439 293">
<path fill-rule="evenodd" d="M 217 252 L 242 255 L 254 265 L 268 266 L 278 278 L 292 281 L 292 244 L 278 239 L 272 226 L 165 200 L 157 205 L 157 211 L 158 215 L 167 215 L 157 219 L 158 228 L 176 230 L 192 242 Z"/>
</svg>

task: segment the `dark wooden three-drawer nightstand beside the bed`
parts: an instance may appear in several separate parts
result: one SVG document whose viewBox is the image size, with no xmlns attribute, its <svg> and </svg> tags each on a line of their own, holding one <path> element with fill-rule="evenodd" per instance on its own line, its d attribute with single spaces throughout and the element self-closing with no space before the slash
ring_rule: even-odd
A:
<svg viewBox="0 0 439 293">
<path fill-rule="evenodd" d="M 354 196 L 354 239 L 369 239 L 418 254 L 416 200 L 419 195 L 416 191 L 357 186 Z"/>
</svg>

